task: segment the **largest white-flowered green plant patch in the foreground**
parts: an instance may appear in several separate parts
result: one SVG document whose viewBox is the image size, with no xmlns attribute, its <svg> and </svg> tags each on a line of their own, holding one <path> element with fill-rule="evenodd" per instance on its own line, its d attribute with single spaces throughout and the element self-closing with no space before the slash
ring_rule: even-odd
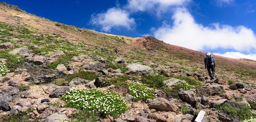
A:
<svg viewBox="0 0 256 122">
<path fill-rule="evenodd" d="M 61 97 L 66 107 L 81 110 L 98 111 L 102 116 L 107 114 L 117 118 L 119 114 L 129 109 L 122 97 L 115 92 L 100 90 L 70 89 Z"/>
</svg>

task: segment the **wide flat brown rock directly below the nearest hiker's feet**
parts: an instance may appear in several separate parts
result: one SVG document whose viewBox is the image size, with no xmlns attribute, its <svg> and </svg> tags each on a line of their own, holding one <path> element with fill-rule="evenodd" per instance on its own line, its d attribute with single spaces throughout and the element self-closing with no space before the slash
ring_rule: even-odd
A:
<svg viewBox="0 0 256 122">
<path fill-rule="evenodd" d="M 203 87 L 197 87 L 197 94 L 199 96 L 214 96 L 225 93 L 222 85 L 209 85 Z"/>
</svg>

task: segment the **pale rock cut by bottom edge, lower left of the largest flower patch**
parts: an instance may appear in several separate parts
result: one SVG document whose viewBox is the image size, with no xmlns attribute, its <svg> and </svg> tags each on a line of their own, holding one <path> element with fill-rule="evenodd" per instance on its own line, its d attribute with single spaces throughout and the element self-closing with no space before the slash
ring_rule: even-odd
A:
<svg viewBox="0 0 256 122">
<path fill-rule="evenodd" d="M 68 117 L 66 114 L 53 113 L 46 118 L 46 122 L 66 122 Z"/>
</svg>

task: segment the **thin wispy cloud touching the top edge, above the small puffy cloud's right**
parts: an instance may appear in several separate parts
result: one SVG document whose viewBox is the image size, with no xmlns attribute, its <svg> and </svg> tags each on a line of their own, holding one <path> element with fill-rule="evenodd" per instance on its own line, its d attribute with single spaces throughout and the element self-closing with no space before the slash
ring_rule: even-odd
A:
<svg viewBox="0 0 256 122">
<path fill-rule="evenodd" d="M 160 15 L 162 12 L 170 11 L 170 6 L 181 6 L 191 0 L 128 0 L 126 9 L 129 11 L 147 11 L 147 12 L 156 12 Z"/>
</svg>

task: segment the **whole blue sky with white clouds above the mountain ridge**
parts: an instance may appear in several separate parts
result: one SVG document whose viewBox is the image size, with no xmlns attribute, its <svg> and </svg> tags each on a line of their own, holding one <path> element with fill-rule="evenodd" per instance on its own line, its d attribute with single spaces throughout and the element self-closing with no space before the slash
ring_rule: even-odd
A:
<svg viewBox="0 0 256 122">
<path fill-rule="evenodd" d="M 80 28 L 256 60 L 256 0 L 5 0 Z"/>
</svg>

